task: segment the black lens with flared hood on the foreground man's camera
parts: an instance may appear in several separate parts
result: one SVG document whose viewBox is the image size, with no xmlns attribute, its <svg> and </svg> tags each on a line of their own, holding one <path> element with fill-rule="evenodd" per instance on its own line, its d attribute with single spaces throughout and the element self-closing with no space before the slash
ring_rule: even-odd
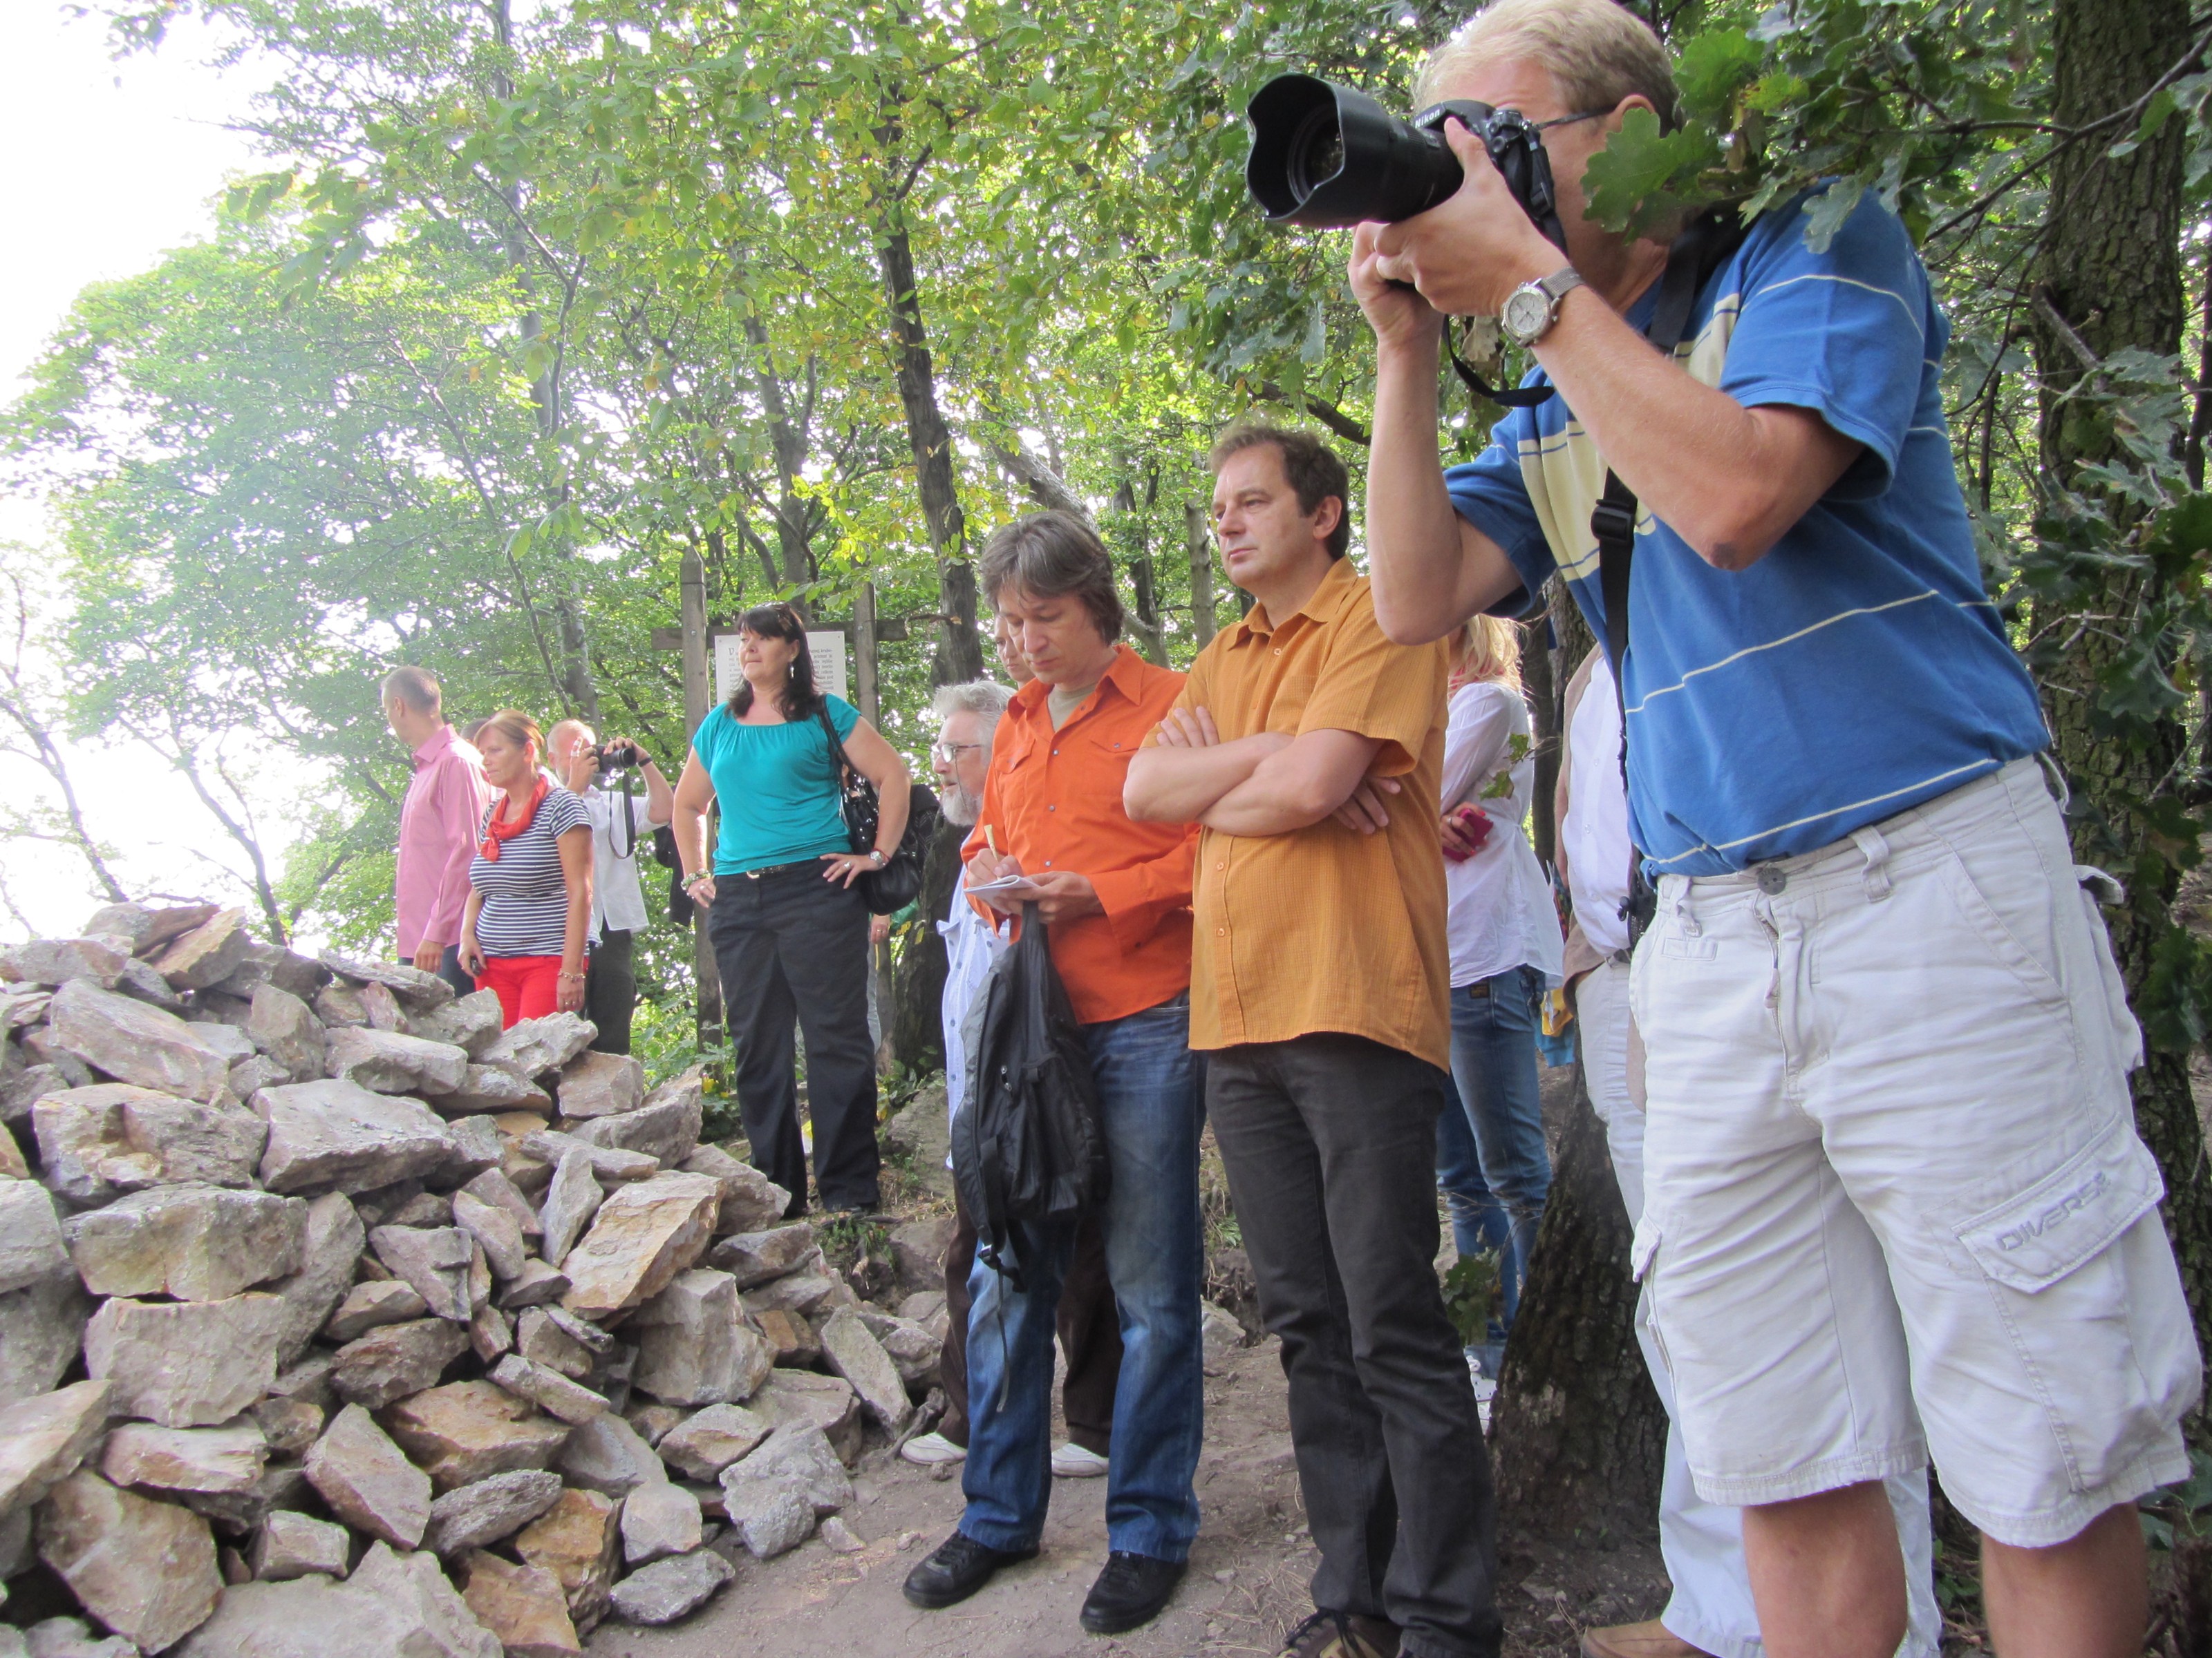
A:
<svg viewBox="0 0 2212 1658">
<path fill-rule="evenodd" d="M 1396 223 L 1460 188 L 1442 133 L 1316 75 L 1276 75 L 1252 95 L 1245 186 L 1272 225 Z"/>
</svg>

